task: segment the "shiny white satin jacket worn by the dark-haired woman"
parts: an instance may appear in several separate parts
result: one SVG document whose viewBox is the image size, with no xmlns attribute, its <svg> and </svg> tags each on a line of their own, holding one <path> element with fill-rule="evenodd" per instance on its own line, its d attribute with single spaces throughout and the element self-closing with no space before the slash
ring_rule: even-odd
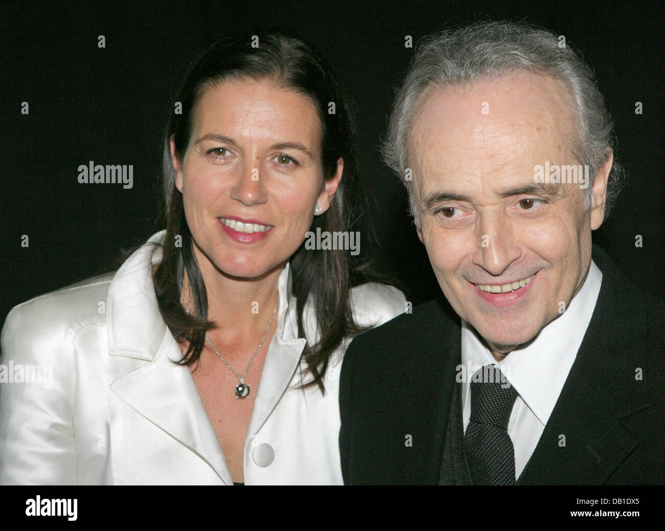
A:
<svg viewBox="0 0 665 531">
<path fill-rule="evenodd" d="M 160 243 L 158 232 L 148 243 Z M 13 308 L 1 336 L 0 484 L 233 484 L 187 367 L 158 310 L 144 245 L 115 273 Z M 338 385 L 348 341 L 327 370 L 325 395 L 297 389 L 289 265 L 279 276 L 277 330 L 268 347 L 245 441 L 245 484 L 342 484 Z M 405 309 L 377 283 L 351 291 L 362 325 Z M 306 308 L 313 342 L 313 309 Z"/>
</svg>

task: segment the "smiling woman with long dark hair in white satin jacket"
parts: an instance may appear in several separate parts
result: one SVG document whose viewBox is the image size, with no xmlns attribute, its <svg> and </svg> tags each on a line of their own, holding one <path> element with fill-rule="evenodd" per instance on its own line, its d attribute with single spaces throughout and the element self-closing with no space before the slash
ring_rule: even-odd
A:
<svg viewBox="0 0 665 531">
<path fill-rule="evenodd" d="M 342 353 L 405 302 L 350 289 L 348 250 L 303 245 L 348 230 L 346 102 L 307 45 L 271 34 L 213 45 L 174 108 L 166 230 L 7 317 L 3 363 L 53 382 L 1 385 L 2 483 L 342 483 Z"/>
</svg>

